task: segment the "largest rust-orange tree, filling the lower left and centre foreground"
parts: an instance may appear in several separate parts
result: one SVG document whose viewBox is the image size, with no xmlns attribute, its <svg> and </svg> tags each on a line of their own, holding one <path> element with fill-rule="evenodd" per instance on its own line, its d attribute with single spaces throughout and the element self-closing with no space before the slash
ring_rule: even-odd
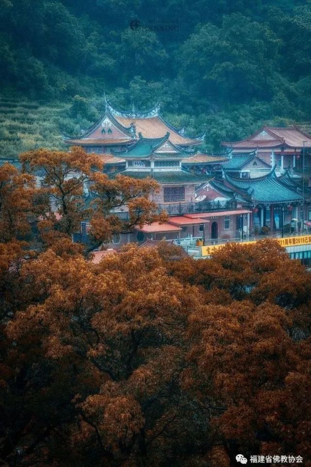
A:
<svg viewBox="0 0 311 467">
<path fill-rule="evenodd" d="M 48 250 L 20 276 L 28 305 L 5 327 L 0 384 L 7 465 L 162 466 L 209 445 L 180 385 L 200 297 L 155 251 L 93 266 Z"/>
</svg>

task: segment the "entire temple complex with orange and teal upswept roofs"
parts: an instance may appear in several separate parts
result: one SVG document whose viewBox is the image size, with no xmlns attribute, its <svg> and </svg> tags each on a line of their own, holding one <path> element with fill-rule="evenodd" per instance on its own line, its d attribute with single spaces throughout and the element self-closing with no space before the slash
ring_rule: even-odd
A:
<svg viewBox="0 0 311 467">
<path fill-rule="evenodd" d="M 152 200 L 168 221 L 114 235 L 106 248 L 192 238 L 215 246 L 258 234 L 283 236 L 284 229 L 303 233 L 308 222 L 311 227 L 311 188 L 299 176 L 301 170 L 311 174 L 311 136 L 298 127 L 264 126 L 243 141 L 222 143 L 223 154 L 209 155 L 197 151 L 203 136 L 174 128 L 159 106 L 126 112 L 105 99 L 99 121 L 65 142 L 97 153 L 111 179 L 150 177 L 159 184 Z"/>
</svg>

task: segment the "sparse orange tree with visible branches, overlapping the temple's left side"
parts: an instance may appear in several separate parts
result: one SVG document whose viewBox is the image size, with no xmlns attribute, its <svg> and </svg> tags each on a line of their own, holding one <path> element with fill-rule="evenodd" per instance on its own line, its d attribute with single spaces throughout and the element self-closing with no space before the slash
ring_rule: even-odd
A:
<svg viewBox="0 0 311 467">
<path fill-rule="evenodd" d="M 93 240 L 89 250 L 111 241 L 113 234 L 130 233 L 136 225 L 165 221 L 158 206 L 149 200 L 158 184 L 154 180 L 117 177 L 102 173 L 102 162 L 80 147 L 68 152 L 35 150 L 20 155 L 24 170 L 43 178 L 42 191 L 50 206 L 41 216 L 39 228 L 47 245 L 80 231 L 81 221 L 90 223 Z M 126 211 L 118 217 L 115 210 Z"/>
</svg>

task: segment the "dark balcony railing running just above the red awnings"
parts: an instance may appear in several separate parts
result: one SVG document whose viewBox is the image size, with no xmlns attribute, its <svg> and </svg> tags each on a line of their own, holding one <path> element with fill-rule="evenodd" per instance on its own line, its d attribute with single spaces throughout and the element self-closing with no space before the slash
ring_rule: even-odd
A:
<svg viewBox="0 0 311 467">
<path fill-rule="evenodd" d="M 169 216 L 182 214 L 206 213 L 209 211 L 229 211 L 236 209 L 235 201 L 198 201 L 194 203 L 159 204 L 159 210 L 166 211 Z"/>
</svg>

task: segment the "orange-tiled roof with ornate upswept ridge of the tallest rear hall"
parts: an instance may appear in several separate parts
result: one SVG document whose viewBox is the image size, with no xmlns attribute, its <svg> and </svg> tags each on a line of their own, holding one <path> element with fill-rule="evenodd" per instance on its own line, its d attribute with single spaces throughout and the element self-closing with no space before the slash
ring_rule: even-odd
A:
<svg viewBox="0 0 311 467">
<path fill-rule="evenodd" d="M 162 138 L 169 133 L 170 142 L 181 148 L 193 148 L 204 140 L 204 135 L 192 138 L 183 129 L 173 127 L 160 114 L 159 105 L 147 112 L 138 112 L 134 107 L 126 112 L 116 110 L 105 98 L 105 111 L 98 122 L 78 138 L 66 137 L 65 143 L 82 146 L 87 152 L 110 154 L 131 146 L 140 133 L 144 138 Z"/>
</svg>

